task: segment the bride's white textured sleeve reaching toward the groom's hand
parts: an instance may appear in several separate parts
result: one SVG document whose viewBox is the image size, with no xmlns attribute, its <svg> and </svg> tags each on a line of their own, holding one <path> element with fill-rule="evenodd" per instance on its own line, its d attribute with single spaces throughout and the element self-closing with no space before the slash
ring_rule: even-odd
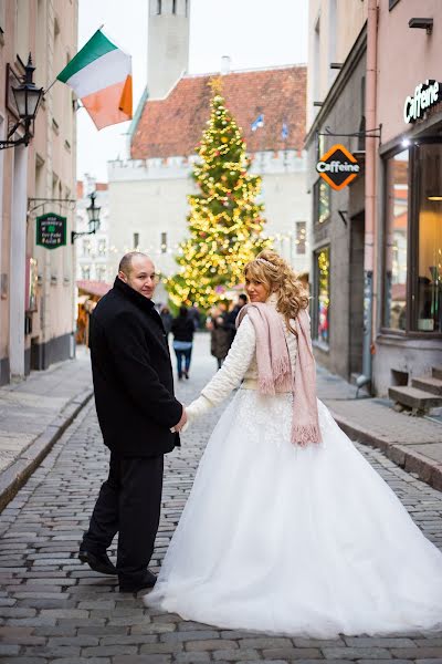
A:
<svg viewBox="0 0 442 664">
<path fill-rule="evenodd" d="M 201 391 L 201 396 L 187 406 L 186 412 L 190 421 L 218 406 L 240 385 L 253 359 L 255 342 L 255 329 L 245 315 L 223 365 Z"/>
</svg>

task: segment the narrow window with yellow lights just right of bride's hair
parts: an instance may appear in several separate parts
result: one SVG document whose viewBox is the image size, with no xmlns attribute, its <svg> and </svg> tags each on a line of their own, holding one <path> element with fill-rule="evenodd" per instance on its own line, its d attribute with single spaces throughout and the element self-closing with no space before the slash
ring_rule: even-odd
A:
<svg viewBox="0 0 442 664">
<path fill-rule="evenodd" d="M 315 309 L 312 326 L 314 339 L 328 346 L 330 317 L 330 249 L 324 247 L 315 253 Z"/>
</svg>

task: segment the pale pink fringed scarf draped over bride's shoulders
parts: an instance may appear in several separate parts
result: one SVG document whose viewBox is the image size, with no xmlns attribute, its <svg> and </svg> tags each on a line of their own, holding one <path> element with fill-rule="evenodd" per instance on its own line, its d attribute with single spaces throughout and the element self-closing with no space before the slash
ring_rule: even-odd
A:
<svg viewBox="0 0 442 664">
<path fill-rule="evenodd" d="M 240 325 L 245 313 L 256 332 L 256 362 L 261 394 L 293 392 L 292 443 L 306 446 L 322 443 L 316 400 L 316 364 L 312 350 L 309 317 L 299 310 L 295 320 L 297 357 L 292 376 L 284 323 L 271 304 L 254 302 L 243 307 L 236 319 Z"/>
</svg>

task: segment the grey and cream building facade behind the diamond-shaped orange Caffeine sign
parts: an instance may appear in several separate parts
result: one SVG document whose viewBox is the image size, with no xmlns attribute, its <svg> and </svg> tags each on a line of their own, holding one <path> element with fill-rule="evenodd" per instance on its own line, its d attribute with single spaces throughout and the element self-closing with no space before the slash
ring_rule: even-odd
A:
<svg viewBox="0 0 442 664">
<path fill-rule="evenodd" d="M 347 378 L 362 372 L 365 173 L 361 168 L 349 186 L 334 190 L 316 166 L 335 145 L 358 155 L 364 165 L 365 23 L 362 2 L 311 2 L 306 147 L 313 195 L 312 336 L 319 363 Z"/>
</svg>

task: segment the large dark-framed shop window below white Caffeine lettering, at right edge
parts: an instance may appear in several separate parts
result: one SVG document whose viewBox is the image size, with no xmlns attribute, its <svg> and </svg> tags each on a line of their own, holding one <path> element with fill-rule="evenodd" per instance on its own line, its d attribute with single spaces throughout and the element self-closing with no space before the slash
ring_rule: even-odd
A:
<svg viewBox="0 0 442 664">
<path fill-rule="evenodd" d="M 388 159 L 386 186 L 383 324 L 441 334 L 442 143 L 428 139 Z"/>
</svg>

